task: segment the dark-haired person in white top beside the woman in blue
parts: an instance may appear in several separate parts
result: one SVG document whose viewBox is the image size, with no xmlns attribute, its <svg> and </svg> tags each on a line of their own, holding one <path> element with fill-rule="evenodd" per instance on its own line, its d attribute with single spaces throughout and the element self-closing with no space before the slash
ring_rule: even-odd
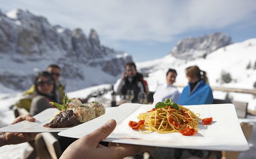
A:
<svg viewBox="0 0 256 159">
<path fill-rule="evenodd" d="M 157 102 L 162 101 L 166 98 L 173 99 L 174 103 L 177 103 L 180 93 L 178 92 L 177 88 L 173 86 L 173 83 L 175 82 L 177 76 L 177 72 L 175 69 L 168 69 L 166 73 L 166 84 L 159 85 L 154 93 L 154 102 L 153 105 L 155 105 Z"/>
</svg>

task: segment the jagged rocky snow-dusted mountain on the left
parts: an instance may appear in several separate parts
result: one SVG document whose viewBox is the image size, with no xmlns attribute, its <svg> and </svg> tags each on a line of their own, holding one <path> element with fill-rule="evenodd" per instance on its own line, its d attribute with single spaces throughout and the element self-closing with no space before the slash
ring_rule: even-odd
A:
<svg viewBox="0 0 256 159">
<path fill-rule="evenodd" d="M 81 29 L 52 26 L 29 11 L 0 11 L 0 83 L 7 88 L 28 89 L 49 64 L 61 67 L 67 91 L 113 83 L 128 61 L 127 53 L 102 46 L 93 29 L 87 37 Z"/>
</svg>

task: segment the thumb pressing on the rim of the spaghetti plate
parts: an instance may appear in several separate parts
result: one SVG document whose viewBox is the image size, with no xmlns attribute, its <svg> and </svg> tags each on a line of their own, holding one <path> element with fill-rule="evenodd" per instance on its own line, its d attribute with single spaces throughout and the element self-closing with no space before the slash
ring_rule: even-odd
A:
<svg viewBox="0 0 256 159">
<path fill-rule="evenodd" d="M 110 119 L 106 124 L 86 135 L 85 137 L 87 138 L 87 142 L 95 146 L 98 145 L 100 141 L 111 134 L 115 127 L 116 121 L 114 119 Z"/>
</svg>

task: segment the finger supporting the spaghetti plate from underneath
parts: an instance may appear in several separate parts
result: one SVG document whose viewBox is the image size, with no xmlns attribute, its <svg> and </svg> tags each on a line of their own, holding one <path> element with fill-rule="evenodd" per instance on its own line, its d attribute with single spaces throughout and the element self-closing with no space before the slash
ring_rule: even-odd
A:
<svg viewBox="0 0 256 159">
<path fill-rule="evenodd" d="M 115 158 L 123 158 L 123 157 L 132 156 L 134 154 L 138 154 L 140 152 L 144 152 L 152 149 L 155 149 L 155 147 L 120 144 L 119 146 L 114 147 L 113 152 L 118 152 L 116 153 L 117 156 L 115 156 Z"/>
</svg>

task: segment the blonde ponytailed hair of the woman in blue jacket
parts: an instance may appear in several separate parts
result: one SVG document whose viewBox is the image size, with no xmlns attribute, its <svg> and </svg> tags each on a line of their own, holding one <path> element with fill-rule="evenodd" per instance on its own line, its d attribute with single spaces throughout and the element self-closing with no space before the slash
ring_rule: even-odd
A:
<svg viewBox="0 0 256 159">
<path fill-rule="evenodd" d="M 190 66 L 188 68 L 185 69 L 186 75 L 191 77 L 191 78 L 199 78 L 199 79 L 203 79 L 204 83 L 209 84 L 208 82 L 208 77 L 207 77 L 207 73 L 206 71 L 202 71 L 200 70 L 199 67 L 197 66 Z"/>
</svg>

